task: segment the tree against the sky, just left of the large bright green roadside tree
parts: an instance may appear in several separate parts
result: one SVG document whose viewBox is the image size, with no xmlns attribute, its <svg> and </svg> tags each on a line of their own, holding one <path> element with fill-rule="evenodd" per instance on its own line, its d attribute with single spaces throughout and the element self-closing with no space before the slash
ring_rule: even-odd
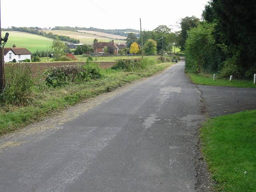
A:
<svg viewBox="0 0 256 192">
<path fill-rule="evenodd" d="M 195 16 L 182 18 L 180 21 L 180 36 L 178 38 L 178 44 L 180 45 L 180 50 L 184 51 L 185 42 L 187 38 L 187 31 L 194 28 L 200 24 L 200 20 Z"/>
</svg>

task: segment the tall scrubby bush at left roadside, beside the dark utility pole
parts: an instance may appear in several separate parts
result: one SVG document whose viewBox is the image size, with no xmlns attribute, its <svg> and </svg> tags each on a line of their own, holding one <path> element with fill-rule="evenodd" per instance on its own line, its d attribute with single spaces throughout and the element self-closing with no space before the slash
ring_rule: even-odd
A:
<svg viewBox="0 0 256 192">
<path fill-rule="evenodd" d="M 31 68 L 24 64 L 8 64 L 4 70 L 6 85 L 0 100 L 6 104 L 25 104 L 32 93 Z"/>
</svg>

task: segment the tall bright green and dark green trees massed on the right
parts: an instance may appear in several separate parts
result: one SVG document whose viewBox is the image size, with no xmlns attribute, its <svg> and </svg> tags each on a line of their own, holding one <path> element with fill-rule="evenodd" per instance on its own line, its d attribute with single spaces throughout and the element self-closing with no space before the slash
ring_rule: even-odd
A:
<svg viewBox="0 0 256 192">
<path fill-rule="evenodd" d="M 256 2 L 211 0 L 202 20 L 186 31 L 186 70 L 221 77 L 256 73 Z"/>
</svg>

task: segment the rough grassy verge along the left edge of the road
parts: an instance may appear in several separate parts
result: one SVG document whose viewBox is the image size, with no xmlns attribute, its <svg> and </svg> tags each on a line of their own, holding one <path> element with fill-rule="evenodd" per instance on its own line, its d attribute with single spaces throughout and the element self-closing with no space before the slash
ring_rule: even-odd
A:
<svg viewBox="0 0 256 192">
<path fill-rule="evenodd" d="M 81 84 L 71 83 L 57 88 L 49 87 L 45 82 L 36 83 L 28 105 L 5 105 L 0 109 L 0 135 L 42 120 L 82 100 L 109 92 L 139 78 L 151 76 L 170 65 L 171 63 L 151 64 L 145 70 L 134 72 L 104 69 L 101 70 L 100 79 Z"/>
</svg>

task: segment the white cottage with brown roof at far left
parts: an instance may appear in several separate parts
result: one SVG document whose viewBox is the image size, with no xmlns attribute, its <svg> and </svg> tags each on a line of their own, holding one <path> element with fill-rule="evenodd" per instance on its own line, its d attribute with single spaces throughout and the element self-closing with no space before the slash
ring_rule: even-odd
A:
<svg viewBox="0 0 256 192">
<path fill-rule="evenodd" d="M 17 62 L 25 59 L 31 60 L 31 52 L 26 48 L 4 48 L 4 62 L 12 62 L 13 59 Z"/>
</svg>

